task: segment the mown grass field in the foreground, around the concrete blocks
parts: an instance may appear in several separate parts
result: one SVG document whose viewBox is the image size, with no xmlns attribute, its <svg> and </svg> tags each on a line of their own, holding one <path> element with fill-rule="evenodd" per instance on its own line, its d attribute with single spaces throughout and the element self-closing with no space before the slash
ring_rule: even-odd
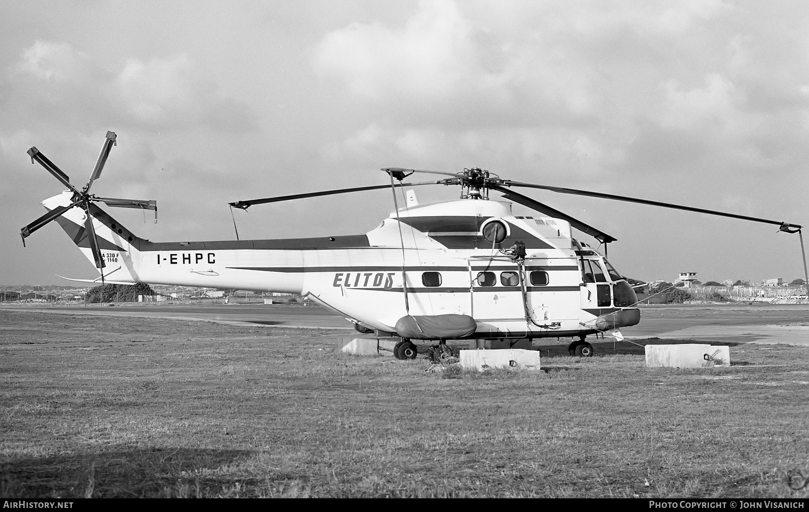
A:
<svg viewBox="0 0 809 512">
<path fill-rule="evenodd" d="M 0 311 L 0 495 L 809 496 L 809 348 L 477 374 L 336 336 Z"/>
</svg>

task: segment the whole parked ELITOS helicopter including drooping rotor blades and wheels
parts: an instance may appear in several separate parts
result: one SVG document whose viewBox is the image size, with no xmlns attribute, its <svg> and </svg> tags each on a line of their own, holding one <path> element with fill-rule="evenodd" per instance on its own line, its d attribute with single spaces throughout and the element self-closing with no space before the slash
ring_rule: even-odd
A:
<svg viewBox="0 0 809 512">
<path fill-rule="evenodd" d="M 461 173 L 383 168 L 389 185 L 323 190 L 229 203 L 258 204 L 390 188 L 394 211 L 368 233 L 278 240 L 153 242 L 135 235 L 98 203 L 155 211 L 152 200 L 104 198 L 91 186 L 104 169 L 116 134 L 108 131 L 90 179 L 78 189 L 36 147 L 28 150 L 68 190 L 44 199 L 48 210 L 21 229 L 25 239 L 56 220 L 95 265 L 101 283 L 170 284 L 299 294 L 354 323 L 357 331 L 398 340 L 398 359 L 414 359 L 419 345 L 431 356 L 451 354 L 447 340 L 475 348 L 531 348 L 532 339 L 572 339 L 570 355 L 592 356 L 588 335 L 640 322 L 637 295 L 607 258 L 615 237 L 516 192 L 549 190 L 649 206 L 775 224 L 785 233 L 801 226 L 704 208 L 616 194 L 503 179 L 484 169 Z M 414 174 L 441 176 L 405 181 Z M 460 198 L 418 204 L 413 188 L 457 186 Z M 397 192 L 406 198 L 400 207 Z M 502 199 L 491 198 L 498 192 Z M 536 215 L 514 215 L 518 203 Z M 231 210 L 232 211 L 232 210 Z M 600 254 L 573 229 L 604 245 Z M 804 253 L 804 271 L 806 258 Z M 99 279 L 71 279 L 98 282 Z M 807 277 L 809 282 L 809 277 Z M 418 343 L 418 344 L 417 344 Z"/>
</svg>

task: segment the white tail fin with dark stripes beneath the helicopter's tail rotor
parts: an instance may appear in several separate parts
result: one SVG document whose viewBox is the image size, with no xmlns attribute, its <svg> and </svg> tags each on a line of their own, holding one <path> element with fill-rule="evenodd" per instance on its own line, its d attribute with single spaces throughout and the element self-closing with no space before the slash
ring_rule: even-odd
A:
<svg viewBox="0 0 809 512">
<path fill-rule="evenodd" d="M 72 201 L 72 192 L 67 190 L 52 198 L 47 198 L 42 205 L 49 210 L 60 206 L 69 206 Z M 140 262 L 140 244 L 142 239 L 125 228 L 118 221 L 112 218 L 106 211 L 90 203 L 90 215 L 93 219 L 93 228 L 98 240 L 99 249 L 104 256 L 104 268 L 96 269 L 105 277 L 110 275 L 111 279 L 121 282 L 139 282 L 138 263 Z M 59 217 L 57 222 L 65 233 L 74 241 L 74 244 L 84 253 L 95 267 L 90 249 L 90 241 L 87 237 L 87 230 L 84 222 L 87 219 L 87 212 L 82 207 L 72 207 Z M 114 275 L 113 275 L 114 274 Z"/>
</svg>

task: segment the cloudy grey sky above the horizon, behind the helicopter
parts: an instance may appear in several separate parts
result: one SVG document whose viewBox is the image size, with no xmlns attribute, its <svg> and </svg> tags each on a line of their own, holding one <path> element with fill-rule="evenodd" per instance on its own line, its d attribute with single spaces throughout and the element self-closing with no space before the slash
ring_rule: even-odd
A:
<svg viewBox="0 0 809 512">
<path fill-rule="evenodd" d="M 809 3 L 6 3 L 0 284 L 97 275 L 56 223 L 26 249 L 19 228 L 62 188 L 28 148 L 80 186 L 107 130 L 94 192 L 156 199 L 159 224 L 112 211 L 153 241 L 231 239 L 230 201 L 384 184 L 388 166 L 809 224 Z M 774 226 L 527 194 L 616 237 L 638 279 L 803 276 Z M 242 238 L 278 238 L 364 233 L 391 210 L 383 190 L 235 214 Z"/>
</svg>

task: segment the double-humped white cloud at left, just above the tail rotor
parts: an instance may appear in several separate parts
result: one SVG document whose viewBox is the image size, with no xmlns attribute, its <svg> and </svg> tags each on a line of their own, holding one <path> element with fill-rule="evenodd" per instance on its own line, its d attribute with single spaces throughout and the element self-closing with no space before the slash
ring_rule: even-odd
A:
<svg viewBox="0 0 809 512">
<path fill-rule="evenodd" d="M 172 129 L 255 128 L 247 105 L 223 96 L 184 53 L 111 70 L 66 43 L 36 41 L 6 75 L 0 112 L 36 123 Z"/>
</svg>

